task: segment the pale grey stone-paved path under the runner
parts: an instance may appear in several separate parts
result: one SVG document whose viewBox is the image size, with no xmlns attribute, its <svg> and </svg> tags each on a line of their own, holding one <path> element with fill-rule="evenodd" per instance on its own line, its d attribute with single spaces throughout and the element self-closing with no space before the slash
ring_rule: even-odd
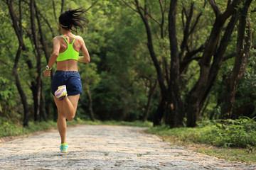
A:
<svg viewBox="0 0 256 170">
<path fill-rule="evenodd" d="M 68 154 L 58 131 L 0 143 L 0 169 L 256 169 L 162 142 L 145 128 L 80 125 L 68 128 Z"/>
</svg>

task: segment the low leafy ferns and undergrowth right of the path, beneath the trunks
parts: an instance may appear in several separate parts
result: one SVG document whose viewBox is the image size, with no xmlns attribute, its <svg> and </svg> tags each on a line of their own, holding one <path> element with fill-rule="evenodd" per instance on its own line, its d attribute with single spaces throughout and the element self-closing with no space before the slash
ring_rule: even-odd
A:
<svg viewBox="0 0 256 170">
<path fill-rule="evenodd" d="M 205 143 L 222 147 L 255 147 L 255 119 L 202 121 L 197 128 L 168 126 L 151 128 L 149 132 L 161 136 L 173 136 L 182 142 Z"/>
</svg>

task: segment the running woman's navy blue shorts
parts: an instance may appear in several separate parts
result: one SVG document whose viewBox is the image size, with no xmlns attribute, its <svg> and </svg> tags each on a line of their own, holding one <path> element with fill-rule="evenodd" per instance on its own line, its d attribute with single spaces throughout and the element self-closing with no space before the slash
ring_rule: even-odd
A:
<svg viewBox="0 0 256 170">
<path fill-rule="evenodd" d="M 58 86 L 62 85 L 66 85 L 68 96 L 82 94 L 82 83 L 79 72 L 57 70 L 50 86 L 50 91 L 53 96 L 54 92 L 58 89 Z"/>
</svg>

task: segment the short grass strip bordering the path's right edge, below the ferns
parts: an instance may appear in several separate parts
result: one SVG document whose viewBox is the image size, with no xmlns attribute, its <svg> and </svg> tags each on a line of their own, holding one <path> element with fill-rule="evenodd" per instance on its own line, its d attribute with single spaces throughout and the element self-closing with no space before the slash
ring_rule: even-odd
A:
<svg viewBox="0 0 256 170">
<path fill-rule="evenodd" d="M 173 128 L 168 126 L 151 127 L 146 130 L 154 135 L 158 135 L 161 140 L 169 142 L 171 145 L 178 145 L 185 149 L 193 150 L 201 154 L 207 154 L 228 161 L 242 162 L 246 164 L 256 164 L 255 147 L 220 147 L 211 143 L 206 132 L 212 130 L 210 125 L 196 128 Z"/>
</svg>

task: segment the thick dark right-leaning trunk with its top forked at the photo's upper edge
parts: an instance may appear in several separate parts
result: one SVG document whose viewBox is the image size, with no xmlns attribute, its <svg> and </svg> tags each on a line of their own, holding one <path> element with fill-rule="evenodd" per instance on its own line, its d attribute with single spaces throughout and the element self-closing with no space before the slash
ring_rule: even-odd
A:
<svg viewBox="0 0 256 170">
<path fill-rule="evenodd" d="M 206 89 L 206 84 L 208 82 L 210 72 L 210 61 L 218 44 L 223 25 L 228 17 L 235 13 L 235 8 L 238 6 L 238 4 L 240 4 L 240 0 L 234 0 L 232 4 L 228 4 L 228 7 L 224 13 L 220 13 L 218 6 L 215 4 L 215 1 L 209 0 L 209 2 L 213 8 L 213 11 L 215 12 L 216 18 L 206 48 L 203 52 L 203 56 L 199 62 L 200 77 L 195 86 L 193 86 L 191 91 L 186 96 L 186 114 L 188 127 L 195 127 L 196 120 L 199 118 L 199 113 L 202 106 L 201 98 L 203 98 L 203 91 Z"/>
</svg>

